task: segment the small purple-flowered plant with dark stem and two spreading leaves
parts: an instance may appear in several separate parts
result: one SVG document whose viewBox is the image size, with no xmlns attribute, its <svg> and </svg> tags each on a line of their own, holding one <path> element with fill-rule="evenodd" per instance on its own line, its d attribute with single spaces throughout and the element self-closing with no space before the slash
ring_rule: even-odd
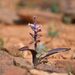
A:
<svg viewBox="0 0 75 75">
<path fill-rule="evenodd" d="M 34 17 L 34 24 L 29 24 L 29 26 L 34 32 L 34 34 L 30 33 L 31 37 L 34 39 L 34 49 L 30 49 L 28 46 L 24 46 L 20 48 L 19 50 L 20 51 L 29 50 L 32 53 L 32 59 L 33 59 L 34 66 L 42 63 L 43 62 L 42 59 L 47 58 L 49 55 L 58 53 L 60 51 L 70 50 L 70 48 L 56 48 L 56 49 L 48 50 L 44 56 L 37 57 L 37 54 L 38 54 L 37 47 L 38 47 L 38 42 L 40 42 L 40 40 L 38 40 L 38 38 L 40 37 L 38 33 L 41 32 L 41 25 L 38 25 L 36 23 L 36 17 Z"/>
</svg>

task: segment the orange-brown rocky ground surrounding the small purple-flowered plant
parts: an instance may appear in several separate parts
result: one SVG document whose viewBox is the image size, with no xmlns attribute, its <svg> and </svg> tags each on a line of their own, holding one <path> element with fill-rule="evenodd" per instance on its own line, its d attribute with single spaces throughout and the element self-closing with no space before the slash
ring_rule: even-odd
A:
<svg viewBox="0 0 75 75">
<path fill-rule="evenodd" d="M 9 0 L 6 1 L 11 3 Z M 4 47 L 7 49 L 7 52 L 0 50 L 0 75 L 67 75 L 69 68 L 72 68 L 73 73 L 75 72 L 75 24 L 63 24 L 61 14 L 53 14 L 39 9 L 16 11 L 13 5 L 8 8 L 9 6 L 5 2 L 0 8 L 0 37 L 4 40 Z M 37 16 L 37 23 L 42 25 L 40 40 L 48 49 L 71 48 L 70 51 L 49 56 L 49 66 L 40 64 L 37 66 L 39 70 L 33 69 L 30 52 L 24 52 L 24 58 L 22 58 L 19 57 L 20 52 L 18 50 L 27 45 L 33 48 L 32 38 L 29 35 L 32 30 L 27 25 L 33 23 L 33 16 Z M 51 26 L 55 26 L 59 32 L 57 37 L 48 37 L 47 30 Z"/>
</svg>

